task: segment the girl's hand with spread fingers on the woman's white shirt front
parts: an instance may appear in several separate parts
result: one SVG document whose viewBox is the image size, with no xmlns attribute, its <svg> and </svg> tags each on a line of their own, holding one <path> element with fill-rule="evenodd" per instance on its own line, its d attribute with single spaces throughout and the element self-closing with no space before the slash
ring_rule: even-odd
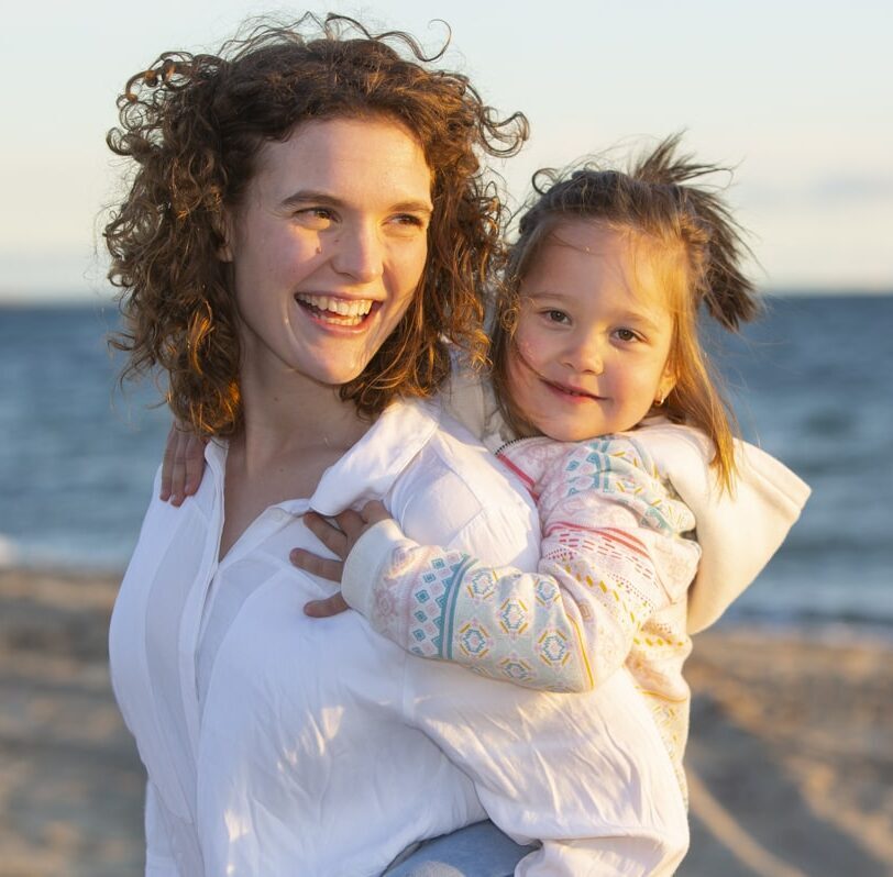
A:
<svg viewBox="0 0 893 877">
<path fill-rule="evenodd" d="M 305 569 L 315 576 L 327 578 L 330 581 L 341 581 L 341 575 L 344 571 L 344 560 L 360 536 L 371 526 L 374 526 L 379 521 L 386 521 L 388 518 L 390 518 L 390 514 L 388 514 L 387 509 L 377 500 L 367 502 L 360 512 L 355 512 L 353 509 L 346 509 L 340 514 L 337 514 L 334 521 L 338 526 L 333 526 L 321 514 L 317 514 L 317 512 L 307 512 L 304 515 L 304 523 L 307 525 L 307 529 L 313 533 L 332 554 L 338 555 L 341 559 L 332 560 L 327 557 L 320 557 L 304 548 L 294 548 L 288 557 L 299 569 Z M 339 591 L 324 600 L 311 600 L 304 607 L 304 611 L 311 618 L 328 618 L 329 615 L 337 615 L 348 608 L 348 603 Z"/>
</svg>

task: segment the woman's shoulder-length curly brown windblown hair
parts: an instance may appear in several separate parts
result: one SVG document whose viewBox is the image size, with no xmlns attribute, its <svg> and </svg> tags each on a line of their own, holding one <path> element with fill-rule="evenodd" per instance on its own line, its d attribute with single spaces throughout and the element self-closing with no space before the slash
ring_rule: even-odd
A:
<svg viewBox="0 0 893 877">
<path fill-rule="evenodd" d="M 406 33 L 308 14 L 261 23 L 219 55 L 165 53 L 131 77 L 107 137 L 134 163 L 104 229 L 125 321 L 111 343 L 130 355 L 122 379 L 159 367 L 180 422 L 206 436 L 240 428 L 239 322 L 219 258 L 224 211 L 240 204 L 264 143 L 332 118 L 384 116 L 411 132 L 434 208 L 414 301 L 341 398 L 375 415 L 397 395 L 430 395 L 450 370 L 444 338 L 483 358 L 482 290 L 504 257 L 504 215 L 479 156 L 515 154 L 527 120 L 500 119 L 466 77 L 426 66 L 444 51 L 427 56 Z"/>
</svg>

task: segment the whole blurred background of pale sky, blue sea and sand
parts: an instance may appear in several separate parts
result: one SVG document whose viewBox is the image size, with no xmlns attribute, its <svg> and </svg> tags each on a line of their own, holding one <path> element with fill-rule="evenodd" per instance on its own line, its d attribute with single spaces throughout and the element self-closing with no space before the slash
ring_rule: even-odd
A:
<svg viewBox="0 0 893 877">
<path fill-rule="evenodd" d="M 801 522 L 690 665 L 683 875 L 893 873 L 893 32 L 889 3 L 331 3 L 452 42 L 441 66 L 531 123 L 532 171 L 685 130 L 735 167 L 767 313 L 717 354 L 746 436 L 813 487 Z M 214 51 L 221 0 L 19 10 L 0 35 L 0 877 L 142 868 L 142 775 L 110 700 L 106 625 L 167 414 L 122 391 L 103 280 L 128 77 Z"/>
</svg>

